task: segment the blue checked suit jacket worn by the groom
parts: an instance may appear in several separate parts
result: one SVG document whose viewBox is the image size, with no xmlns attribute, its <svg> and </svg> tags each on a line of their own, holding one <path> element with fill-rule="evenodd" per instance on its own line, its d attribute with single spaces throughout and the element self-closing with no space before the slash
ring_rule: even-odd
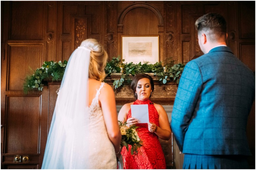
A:
<svg viewBox="0 0 256 170">
<path fill-rule="evenodd" d="M 188 62 L 171 119 L 181 152 L 251 155 L 246 124 L 253 100 L 255 76 L 229 47 L 215 47 Z"/>
</svg>

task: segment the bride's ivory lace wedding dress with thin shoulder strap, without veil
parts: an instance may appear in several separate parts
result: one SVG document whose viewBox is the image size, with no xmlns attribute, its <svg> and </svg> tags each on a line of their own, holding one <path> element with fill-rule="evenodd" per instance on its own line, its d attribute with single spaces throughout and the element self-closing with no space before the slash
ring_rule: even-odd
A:
<svg viewBox="0 0 256 170">
<path fill-rule="evenodd" d="M 109 140 L 102 110 L 98 103 L 100 90 L 104 83 L 101 83 L 95 98 L 89 106 L 89 164 L 88 169 L 117 169 L 115 149 Z M 86 134 L 86 133 L 85 133 Z"/>
</svg>

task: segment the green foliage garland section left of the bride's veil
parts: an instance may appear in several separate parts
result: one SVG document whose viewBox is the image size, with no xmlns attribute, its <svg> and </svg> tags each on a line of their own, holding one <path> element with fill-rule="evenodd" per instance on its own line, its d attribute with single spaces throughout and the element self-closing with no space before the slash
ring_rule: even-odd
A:
<svg viewBox="0 0 256 170">
<path fill-rule="evenodd" d="M 63 63 L 61 61 L 45 61 L 41 68 L 37 68 L 32 75 L 28 75 L 25 78 L 23 84 L 24 93 L 27 94 L 29 90 L 34 88 L 38 91 L 42 91 L 42 81 L 44 79 L 51 78 L 53 81 L 62 80 L 67 63 L 66 60 L 64 60 Z"/>
</svg>

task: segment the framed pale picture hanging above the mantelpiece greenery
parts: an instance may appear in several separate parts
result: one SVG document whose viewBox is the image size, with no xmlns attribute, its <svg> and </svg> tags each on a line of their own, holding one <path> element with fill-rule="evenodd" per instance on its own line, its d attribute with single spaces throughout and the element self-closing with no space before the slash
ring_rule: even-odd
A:
<svg viewBox="0 0 256 170">
<path fill-rule="evenodd" d="M 159 36 L 121 36 L 124 63 L 159 62 Z"/>
</svg>

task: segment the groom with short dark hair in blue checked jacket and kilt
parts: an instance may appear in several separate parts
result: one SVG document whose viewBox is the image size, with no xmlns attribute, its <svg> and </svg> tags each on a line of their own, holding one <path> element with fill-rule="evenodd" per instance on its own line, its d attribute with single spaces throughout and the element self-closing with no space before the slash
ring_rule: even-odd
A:
<svg viewBox="0 0 256 170">
<path fill-rule="evenodd" d="M 184 169 L 248 169 L 246 123 L 255 76 L 226 46 L 226 21 L 208 13 L 195 23 L 204 53 L 181 75 L 171 128 Z M 254 57 L 254 56 L 251 56 Z"/>
</svg>

